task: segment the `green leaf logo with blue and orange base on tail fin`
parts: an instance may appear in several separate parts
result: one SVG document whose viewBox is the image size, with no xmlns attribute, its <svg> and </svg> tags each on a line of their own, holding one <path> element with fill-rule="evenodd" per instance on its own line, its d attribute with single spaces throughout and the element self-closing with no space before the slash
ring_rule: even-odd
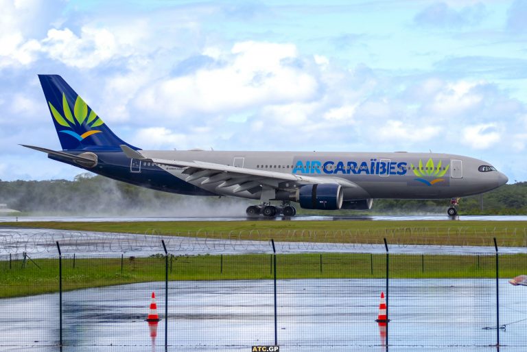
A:
<svg viewBox="0 0 527 352">
<path fill-rule="evenodd" d="M 62 112 L 64 113 L 64 117 L 60 115 L 58 110 L 55 108 L 55 106 L 53 106 L 53 104 L 51 104 L 51 102 L 47 102 L 47 104 L 49 104 L 51 115 L 53 115 L 55 121 L 57 121 L 57 124 L 70 128 L 69 130 L 60 130 L 59 132 L 69 134 L 70 136 L 75 137 L 75 139 L 78 139 L 78 141 L 82 141 L 92 134 L 102 132 L 101 130 L 91 130 L 93 127 L 103 125 L 104 122 L 102 119 L 100 119 L 100 117 L 97 117 L 95 111 L 91 110 L 88 114 L 88 105 L 86 105 L 80 96 L 77 96 L 77 99 L 75 100 L 75 106 L 73 106 L 73 114 L 71 114 L 71 109 L 69 108 L 66 95 L 64 92 L 62 92 Z M 78 134 L 78 132 L 75 132 L 75 130 L 86 130 L 86 132 Z"/>
</svg>

